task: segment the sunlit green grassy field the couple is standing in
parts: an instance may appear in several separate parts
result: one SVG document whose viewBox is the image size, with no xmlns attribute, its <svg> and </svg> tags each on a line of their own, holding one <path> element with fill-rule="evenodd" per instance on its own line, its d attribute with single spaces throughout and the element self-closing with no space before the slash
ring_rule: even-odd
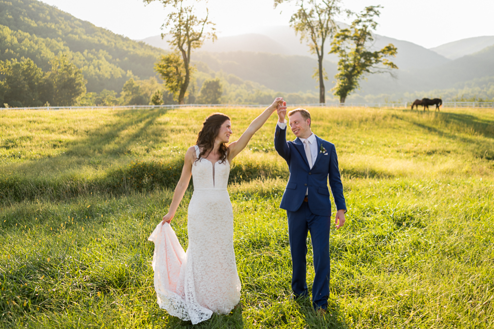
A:
<svg viewBox="0 0 494 329">
<path fill-rule="evenodd" d="M 217 110 L 234 139 L 261 111 Z M 329 314 L 289 298 L 272 117 L 230 176 L 244 308 L 195 327 L 493 328 L 494 112 L 309 110 L 349 207 L 331 231 Z M 0 111 L 0 327 L 192 327 L 158 307 L 147 237 L 213 111 Z M 172 222 L 184 248 L 191 195 Z"/>
</svg>

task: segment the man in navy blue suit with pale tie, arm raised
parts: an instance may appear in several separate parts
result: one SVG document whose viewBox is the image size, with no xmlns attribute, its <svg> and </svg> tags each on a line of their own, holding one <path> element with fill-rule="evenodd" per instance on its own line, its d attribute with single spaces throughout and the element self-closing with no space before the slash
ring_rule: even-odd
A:
<svg viewBox="0 0 494 329">
<path fill-rule="evenodd" d="M 310 113 L 295 109 L 288 113 L 289 125 L 297 137 L 287 142 L 286 108 L 278 110 L 275 149 L 290 170 L 280 208 L 287 210 L 288 237 L 292 260 L 291 288 L 295 297 L 308 296 L 306 276 L 307 232 L 314 253 L 315 277 L 312 285 L 314 309 L 325 313 L 329 297 L 329 226 L 331 202 L 329 186 L 336 204 L 335 224 L 345 224 L 345 198 L 334 145 L 311 131 Z"/>
</svg>

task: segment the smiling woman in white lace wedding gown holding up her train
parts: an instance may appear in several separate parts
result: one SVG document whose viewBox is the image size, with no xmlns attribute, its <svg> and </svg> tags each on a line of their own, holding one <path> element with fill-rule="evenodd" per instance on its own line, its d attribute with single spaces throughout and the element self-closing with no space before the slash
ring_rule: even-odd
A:
<svg viewBox="0 0 494 329">
<path fill-rule="evenodd" d="M 241 284 L 233 249 L 233 210 L 226 189 L 230 164 L 271 114 L 286 109 L 286 104 L 283 98 L 276 98 L 228 146 L 233 133 L 230 118 L 213 114 L 203 123 L 197 145 L 187 150 L 168 213 L 148 238 L 155 243 L 153 270 L 158 304 L 170 315 L 197 324 L 213 312 L 228 314 L 239 304 Z M 169 223 L 191 176 L 194 193 L 188 210 L 189 245 L 184 252 Z"/>
</svg>

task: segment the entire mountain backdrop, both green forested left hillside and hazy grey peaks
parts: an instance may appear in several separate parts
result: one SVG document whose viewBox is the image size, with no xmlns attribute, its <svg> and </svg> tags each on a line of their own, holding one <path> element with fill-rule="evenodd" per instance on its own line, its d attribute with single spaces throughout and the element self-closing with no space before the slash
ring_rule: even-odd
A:
<svg viewBox="0 0 494 329">
<path fill-rule="evenodd" d="M 494 98 L 494 37 L 464 39 L 427 49 L 375 35 L 372 47 L 388 43 L 398 48 L 392 59 L 399 67 L 395 77 L 371 75 L 361 82 L 353 97 L 453 97 L 468 89 Z M 328 42 L 325 53 L 329 48 Z M 160 36 L 133 41 L 41 1 L 0 0 L 0 60 L 28 57 L 47 70 L 52 58 L 67 53 L 82 69 L 88 91 L 120 92 L 129 78 L 156 77 L 154 63 L 167 50 L 168 44 Z M 207 77 L 228 76 L 235 83 L 254 82 L 252 85 L 261 89 L 317 95 L 318 83 L 312 78 L 316 57 L 288 26 L 253 28 L 250 34 L 206 41 L 193 52 L 192 60 L 202 74 L 198 88 Z M 335 55 L 325 55 L 328 91 L 336 63 Z"/>
</svg>

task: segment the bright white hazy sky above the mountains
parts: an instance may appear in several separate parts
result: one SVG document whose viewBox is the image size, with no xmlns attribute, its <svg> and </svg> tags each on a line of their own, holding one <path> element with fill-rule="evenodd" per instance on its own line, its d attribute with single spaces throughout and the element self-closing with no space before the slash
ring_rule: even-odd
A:
<svg viewBox="0 0 494 329">
<path fill-rule="evenodd" d="M 131 39 L 159 35 L 166 14 L 158 1 L 146 6 L 142 0 L 43 2 Z M 354 11 L 366 5 L 382 5 L 378 34 L 427 48 L 494 35 L 494 0 L 351 0 L 343 4 Z M 209 0 L 207 6 L 218 36 L 248 33 L 263 26 L 288 25 L 292 13 L 289 5 L 273 9 L 273 0 Z M 345 17 L 339 20 L 350 22 Z"/>
</svg>

